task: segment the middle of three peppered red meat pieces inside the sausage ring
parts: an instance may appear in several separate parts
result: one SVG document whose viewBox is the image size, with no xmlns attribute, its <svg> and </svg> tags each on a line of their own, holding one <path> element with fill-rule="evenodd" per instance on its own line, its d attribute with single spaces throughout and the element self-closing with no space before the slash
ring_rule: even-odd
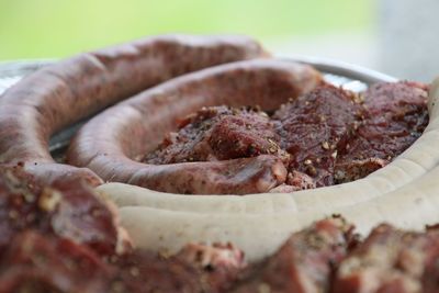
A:
<svg viewBox="0 0 439 293">
<path fill-rule="evenodd" d="M 316 187 L 334 183 L 337 155 L 362 115 L 356 101 L 353 93 L 325 84 L 274 113 L 281 148 L 291 155 L 290 171 L 311 176 Z"/>
</svg>

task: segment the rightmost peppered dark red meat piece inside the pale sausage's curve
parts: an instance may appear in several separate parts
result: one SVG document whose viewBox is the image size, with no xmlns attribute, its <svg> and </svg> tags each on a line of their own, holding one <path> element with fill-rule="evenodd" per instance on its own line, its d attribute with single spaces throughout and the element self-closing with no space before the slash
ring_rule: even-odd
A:
<svg viewBox="0 0 439 293">
<path fill-rule="evenodd" d="M 362 178 L 386 165 L 408 148 L 428 124 L 427 90 L 423 84 L 376 83 L 363 100 L 365 120 L 339 153 L 337 183 Z M 376 164 L 376 159 L 381 162 Z M 354 168 L 359 161 L 367 166 Z M 376 168 L 370 168 L 371 162 Z"/>
</svg>

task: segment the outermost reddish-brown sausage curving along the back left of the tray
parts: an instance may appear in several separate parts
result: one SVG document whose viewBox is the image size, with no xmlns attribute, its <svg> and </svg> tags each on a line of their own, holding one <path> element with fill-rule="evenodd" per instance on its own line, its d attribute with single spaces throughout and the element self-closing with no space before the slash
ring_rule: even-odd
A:
<svg viewBox="0 0 439 293">
<path fill-rule="evenodd" d="M 49 137 L 63 127 L 185 72 L 267 54 L 245 36 L 165 35 L 61 60 L 26 77 L 0 99 L 0 164 L 24 164 L 49 183 L 87 169 L 56 164 Z"/>
</svg>

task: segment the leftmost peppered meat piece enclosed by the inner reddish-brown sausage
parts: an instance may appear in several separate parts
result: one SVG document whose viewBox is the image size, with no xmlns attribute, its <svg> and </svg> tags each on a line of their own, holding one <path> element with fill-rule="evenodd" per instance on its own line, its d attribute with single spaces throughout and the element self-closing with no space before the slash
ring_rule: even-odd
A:
<svg viewBox="0 0 439 293">
<path fill-rule="evenodd" d="M 203 108 L 180 123 L 157 150 L 144 159 L 148 164 L 228 160 L 289 155 L 279 148 L 279 136 L 264 112 L 227 106 Z"/>
</svg>

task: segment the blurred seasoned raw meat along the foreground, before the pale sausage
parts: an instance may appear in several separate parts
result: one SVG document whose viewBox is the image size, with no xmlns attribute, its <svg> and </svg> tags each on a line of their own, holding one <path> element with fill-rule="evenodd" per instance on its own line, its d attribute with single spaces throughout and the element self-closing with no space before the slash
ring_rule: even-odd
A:
<svg viewBox="0 0 439 293">
<path fill-rule="evenodd" d="M 439 292 L 437 226 L 382 224 L 361 241 L 333 216 L 246 263 L 232 244 L 188 244 L 171 256 L 133 249 L 116 213 L 81 182 L 41 187 L 20 168 L 1 169 L 0 200 L 1 293 Z"/>
</svg>

